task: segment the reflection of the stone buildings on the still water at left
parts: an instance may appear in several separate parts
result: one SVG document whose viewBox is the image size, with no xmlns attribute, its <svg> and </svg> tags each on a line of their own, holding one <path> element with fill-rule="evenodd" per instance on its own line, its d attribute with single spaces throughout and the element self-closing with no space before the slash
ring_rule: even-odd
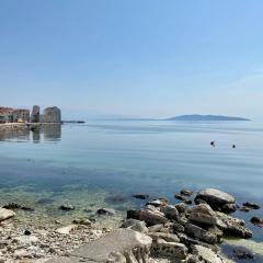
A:
<svg viewBox="0 0 263 263">
<path fill-rule="evenodd" d="M 19 128 L 15 130 L 1 130 L 0 140 L 14 141 L 59 141 L 61 139 L 61 124 L 45 124 L 32 128 Z"/>
</svg>

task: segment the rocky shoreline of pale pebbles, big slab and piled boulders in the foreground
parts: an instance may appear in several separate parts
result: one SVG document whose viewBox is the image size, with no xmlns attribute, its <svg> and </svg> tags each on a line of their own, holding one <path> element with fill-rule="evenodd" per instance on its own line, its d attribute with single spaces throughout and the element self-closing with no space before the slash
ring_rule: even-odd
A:
<svg viewBox="0 0 263 263">
<path fill-rule="evenodd" d="M 194 196 L 183 190 L 175 194 L 182 201 L 169 204 L 165 198 L 148 201 L 147 194 L 136 194 L 145 199 L 140 209 L 127 210 L 127 218 L 118 229 L 108 229 L 91 218 L 77 218 L 71 225 L 55 221 L 48 226 L 21 224 L 15 209 L 28 207 L 8 204 L 0 208 L 0 262 L 187 262 L 226 263 L 238 259 L 253 260 L 253 253 L 238 250 L 233 261 L 220 254 L 222 238 L 250 239 L 252 231 L 243 220 L 229 214 L 236 209 L 260 209 L 253 203 L 242 207 L 225 192 L 207 188 Z M 193 198 L 192 198 L 193 199 Z M 73 207 L 61 206 L 70 210 Z M 114 210 L 101 208 L 99 215 L 113 216 Z M 262 227 L 261 218 L 252 222 Z"/>
</svg>

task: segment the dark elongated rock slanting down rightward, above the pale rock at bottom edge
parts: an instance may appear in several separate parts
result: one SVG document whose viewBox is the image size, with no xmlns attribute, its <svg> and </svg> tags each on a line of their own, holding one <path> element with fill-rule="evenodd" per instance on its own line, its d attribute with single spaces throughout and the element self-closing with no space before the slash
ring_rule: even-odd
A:
<svg viewBox="0 0 263 263">
<path fill-rule="evenodd" d="M 186 224 L 185 232 L 193 238 L 196 238 L 201 241 L 204 241 L 210 244 L 216 244 L 219 242 L 219 238 L 215 233 L 211 233 L 193 224 Z"/>
</svg>

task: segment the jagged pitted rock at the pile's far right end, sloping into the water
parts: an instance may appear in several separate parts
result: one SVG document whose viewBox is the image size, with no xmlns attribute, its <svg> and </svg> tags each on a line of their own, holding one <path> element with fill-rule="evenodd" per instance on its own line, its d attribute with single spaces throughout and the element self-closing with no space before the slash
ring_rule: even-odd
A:
<svg viewBox="0 0 263 263">
<path fill-rule="evenodd" d="M 252 232 L 248 228 L 245 228 L 244 221 L 235 217 L 227 216 L 222 213 L 217 213 L 218 221 L 217 226 L 219 229 L 224 231 L 227 236 L 233 236 L 239 238 L 251 238 Z"/>
</svg>

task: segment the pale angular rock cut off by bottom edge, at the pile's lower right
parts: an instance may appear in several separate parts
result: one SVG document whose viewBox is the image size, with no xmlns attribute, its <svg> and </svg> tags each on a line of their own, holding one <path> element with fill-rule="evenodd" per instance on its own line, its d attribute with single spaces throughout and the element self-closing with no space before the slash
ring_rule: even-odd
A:
<svg viewBox="0 0 263 263">
<path fill-rule="evenodd" d="M 205 248 L 202 245 L 194 245 L 192 249 L 192 255 L 188 262 L 190 263 L 224 263 L 224 260 L 208 248 Z"/>
</svg>

